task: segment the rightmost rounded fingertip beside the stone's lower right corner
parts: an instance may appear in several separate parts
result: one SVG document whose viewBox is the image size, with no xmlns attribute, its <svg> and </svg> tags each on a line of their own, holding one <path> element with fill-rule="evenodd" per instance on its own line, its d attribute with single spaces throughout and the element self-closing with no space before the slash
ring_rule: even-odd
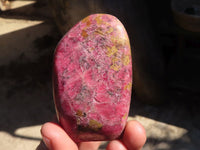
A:
<svg viewBox="0 0 200 150">
<path fill-rule="evenodd" d="M 129 121 L 126 124 L 122 141 L 129 150 L 140 150 L 146 142 L 144 127 L 137 121 Z"/>
</svg>

